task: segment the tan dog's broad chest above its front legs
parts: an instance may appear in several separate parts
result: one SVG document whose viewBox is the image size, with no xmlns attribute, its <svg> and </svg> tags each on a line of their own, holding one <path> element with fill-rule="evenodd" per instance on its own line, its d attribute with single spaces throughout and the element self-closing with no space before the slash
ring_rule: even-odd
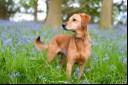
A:
<svg viewBox="0 0 128 85">
<path fill-rule="evenodd" d="M 70 41 L 68 54 L 70 56 L 74 56 L 77 63 L 82 63 L 86 60 L 86 54 L 90 51 L 90 41 L 89 39 L 83 40 L 83 39 L 72 39 Z"/>
</svg>

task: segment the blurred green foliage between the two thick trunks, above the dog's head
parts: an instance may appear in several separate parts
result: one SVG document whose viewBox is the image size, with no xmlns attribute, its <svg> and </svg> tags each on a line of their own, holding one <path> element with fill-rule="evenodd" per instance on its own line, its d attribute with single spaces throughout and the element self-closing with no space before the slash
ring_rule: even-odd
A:
<svg viewBox="0 0 128 85">
<path fill-rule="evenodd" d="M 92 23 L 99 20 L 101 0 L 63 0 L 62 2 L 63 20 L 66 21 L 74 13 L 87 13 L 92 17 Z M 98 20 L 97 20 L 98 19 Z"/>
</svg>

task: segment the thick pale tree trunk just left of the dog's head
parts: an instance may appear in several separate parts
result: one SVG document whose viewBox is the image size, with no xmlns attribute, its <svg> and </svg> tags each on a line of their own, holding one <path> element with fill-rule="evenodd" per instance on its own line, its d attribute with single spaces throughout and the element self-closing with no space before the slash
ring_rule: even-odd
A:
<svg viewBox="0 0 128 85">
<path fill-rule="evenodd" d="M 45 26 L 50 28 L 58 28 L 62 24 L 61 19 L 61 0 L 48 1 L 48 15 L 46 17 Z"/>
</svg>

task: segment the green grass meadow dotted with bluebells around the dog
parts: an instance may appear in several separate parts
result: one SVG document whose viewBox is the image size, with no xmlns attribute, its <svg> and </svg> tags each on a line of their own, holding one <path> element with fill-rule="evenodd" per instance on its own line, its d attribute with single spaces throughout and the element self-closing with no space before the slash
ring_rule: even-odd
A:
<svg viewBox="0 0 128 85">
<path fill-rule="evenodd" d="M 66 80 L 66 65 L 59 68 L 59 56 L 46 65 L 47 52 L 39 52 L 34 39 L 48 43 L 62 29 L 43 28 L 42 23 L 0 21 L 0 84 L 127 84 L 127 29 L 99 30 L 92 26 L 92 55 L 82 80 L 78 65 Z"/>
</svg>

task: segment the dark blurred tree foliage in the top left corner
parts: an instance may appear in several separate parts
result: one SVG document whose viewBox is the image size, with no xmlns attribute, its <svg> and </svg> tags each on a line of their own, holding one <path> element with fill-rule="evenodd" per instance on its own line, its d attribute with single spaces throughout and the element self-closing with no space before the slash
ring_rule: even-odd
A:
<svg viewBox="0 0 128 85">
<path fill-rule="evenodd" d="M 13 0 L 0 0 L 0 19 L 6 20 L 19 10 Z"/>
</svg>

